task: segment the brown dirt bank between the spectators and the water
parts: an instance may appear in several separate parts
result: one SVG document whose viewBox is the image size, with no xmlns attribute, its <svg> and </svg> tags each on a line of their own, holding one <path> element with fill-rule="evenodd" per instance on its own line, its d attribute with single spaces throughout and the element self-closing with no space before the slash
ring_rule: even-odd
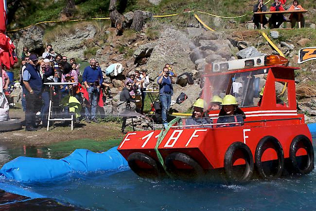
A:
<svg viewBox="0 0 316 211">
<path fill-rule="evenodd" d="M 11 117 L 21 117 L 24 119 L 24 113 L 21 109 L 10 109 Z M 70 126 L 56 124 L 49 131 L 46 128 L 31 132 L 23 130 L 2 132 L 0 133 L 0 145 L 19 146 L 34 145 L 45 146 L 56 142 L 76 140 L 76 139 L 93 139 L 97 141 L 108 140 L 112 138 L 123 138 L 121 125 L 116 123 L 90 123 L 81 121 L 78 128 L 71 131 Z"/>
</svg>

